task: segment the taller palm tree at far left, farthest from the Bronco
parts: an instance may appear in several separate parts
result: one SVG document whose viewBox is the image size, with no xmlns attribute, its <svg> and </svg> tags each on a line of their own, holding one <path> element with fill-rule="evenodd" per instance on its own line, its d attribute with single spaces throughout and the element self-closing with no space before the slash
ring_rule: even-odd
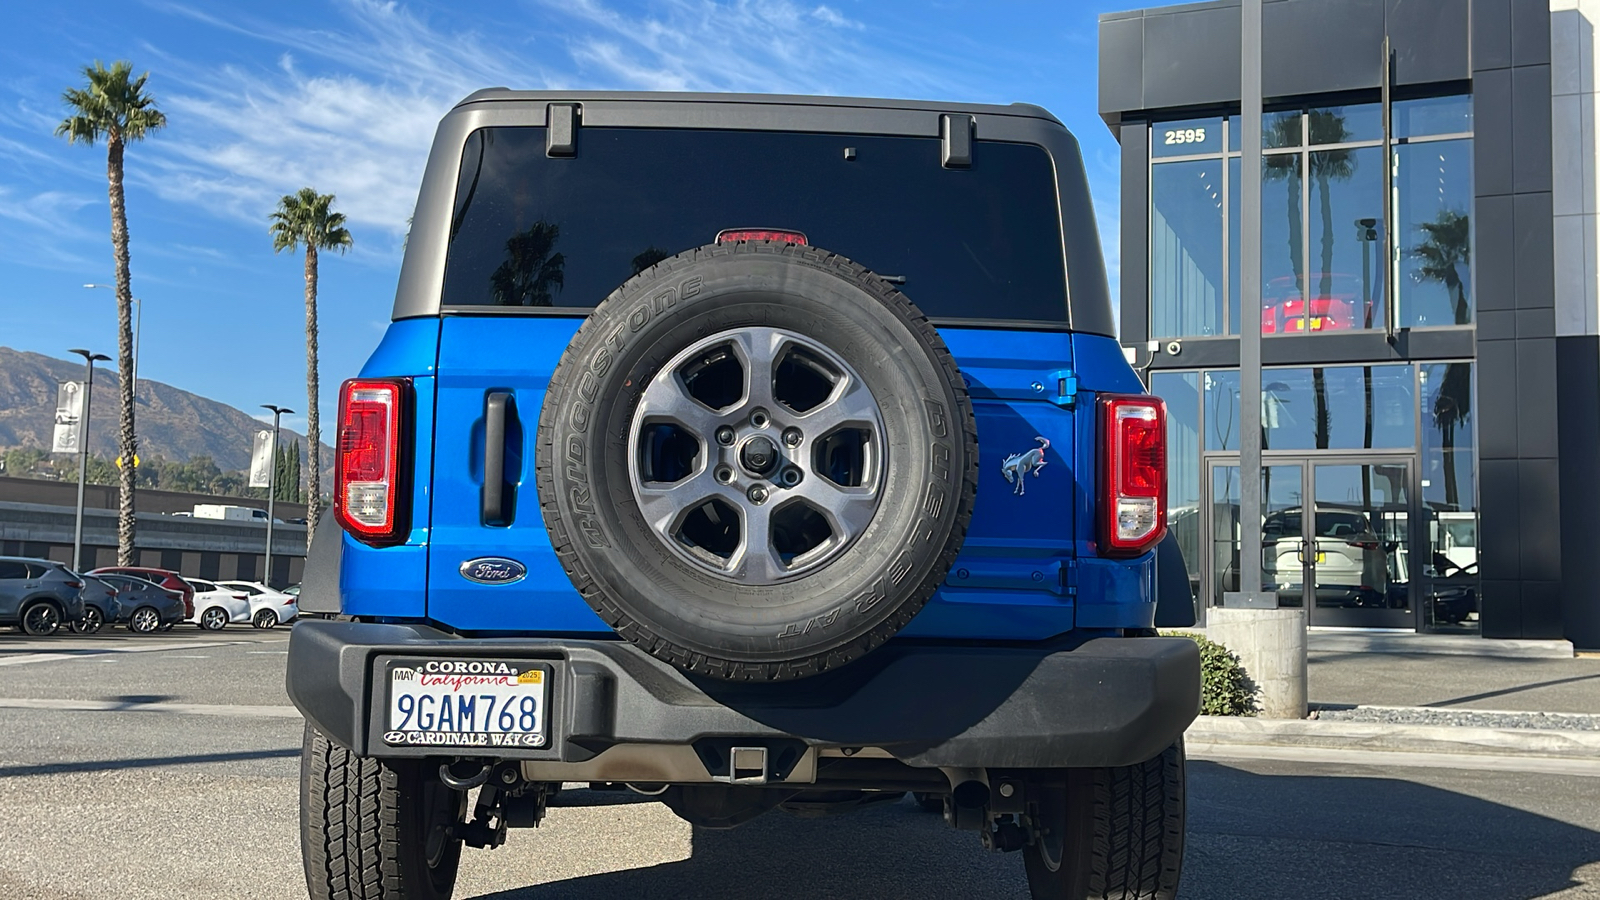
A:
<svg viewBox="0 0 1600 900">
<path fill-rule="evenodd" d="M 117 266 L 117 383 L 120 386 L 120 416 L 117 445 L 128 463 L 122 468 L 122 496 L 117 504 L 117 564 L 133 565 L 133 460 L 139 453 L 139 440 L 133 432 L 133 285 L 128 275 L 128 203 L 122 189 L 122 155 L 128 141 L 142 141 L 146 135 L 166 125 L 166 115 L 155 109 L 155 98 L 144 91 L 150 74 L 133 77 L 133 62 L 120 59 L 110 69 L 98 59 L 83 67 L 86 80 L 82 88 L 67 88 L 61 99 L 70 114 L 56 125 L 56 136 L 69 144 L 94 146 L 106 141 L 106 181 L 110 192 L 110 247 Z"/>
</svg>

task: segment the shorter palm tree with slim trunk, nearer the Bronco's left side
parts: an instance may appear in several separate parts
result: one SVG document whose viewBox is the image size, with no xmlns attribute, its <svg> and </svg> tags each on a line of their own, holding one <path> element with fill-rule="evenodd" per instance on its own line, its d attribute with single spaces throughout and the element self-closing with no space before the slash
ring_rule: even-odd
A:
<svg viewBox="0 0 1600 900">
<path fill-rule="evenodd" d="M 272 251 L 306 247 L 306 546 L 317 533 L 322 506 L 322 423 L 317 416 L 317 251 L 344 253 L 354 240 L 344 227 L 344 213 L 333 211 L 333 194 L 301 187 L 286 194 L 272 211 Z"/>
</svg>

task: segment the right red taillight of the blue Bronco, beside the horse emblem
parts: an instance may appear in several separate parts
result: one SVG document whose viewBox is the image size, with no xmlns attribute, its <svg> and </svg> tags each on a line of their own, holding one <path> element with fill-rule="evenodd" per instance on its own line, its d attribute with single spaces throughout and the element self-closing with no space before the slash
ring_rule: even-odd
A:
<svg viewBox="0 0 1600 900">
<path fill-rule="evenodd" d="M 1102 394 L 1101 552 L 1138 556 L 1166 533 L 1166 404 Z"/>
</svg>

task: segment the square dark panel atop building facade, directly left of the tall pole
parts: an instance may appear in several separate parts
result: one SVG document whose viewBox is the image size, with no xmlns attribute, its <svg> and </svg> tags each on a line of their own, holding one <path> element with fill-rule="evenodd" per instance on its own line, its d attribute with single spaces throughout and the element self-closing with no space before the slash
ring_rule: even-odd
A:
<svg viewBox="0 0 1600 900">
<path fill-rule="evenodd" d="M 1144 19 L 1144 106 L 1238 101 L 1238 6 Z"/>
</svg>

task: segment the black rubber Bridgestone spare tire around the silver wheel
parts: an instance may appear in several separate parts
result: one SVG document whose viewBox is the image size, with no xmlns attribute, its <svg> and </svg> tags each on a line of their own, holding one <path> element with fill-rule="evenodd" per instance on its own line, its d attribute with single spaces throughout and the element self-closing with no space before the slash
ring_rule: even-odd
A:
<svg viewBox="0 0 1600 900">
<path fill-rule="evenodd" d="M 882 420 L 870 522 L 826 562 L 771 583 L 686 559 L 646 524 L 630 474 L 645 386 L 677 354 L 739 328 L 837 354 Z M 562 565 L 618 634 L 690 673 L 786 681 L 862 657 L 926 604 L 971 519 L 978 432 L 950 352 L 907 296 L 816 247 L 741 242 L 664 259 L 595 307 L 550 380 L 536 472 Z"/>
</svg>

